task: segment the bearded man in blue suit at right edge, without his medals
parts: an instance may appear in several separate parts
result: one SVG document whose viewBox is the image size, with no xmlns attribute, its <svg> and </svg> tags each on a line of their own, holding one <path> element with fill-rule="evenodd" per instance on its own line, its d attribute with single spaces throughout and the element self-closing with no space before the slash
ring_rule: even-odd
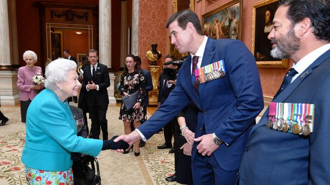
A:
<svg viewBox="0 0 330 185">
<path fill-rule="evenodd" d="M 268 129 L 267 110 L 248 137 L 239 184 L 329 184 L 329 10 L 329 0 L 280 1 L 271 55 L 292 59 L 296 74 L 273 102 L 314 104 L 314 128 L 307 136 Z"/>
</svg>

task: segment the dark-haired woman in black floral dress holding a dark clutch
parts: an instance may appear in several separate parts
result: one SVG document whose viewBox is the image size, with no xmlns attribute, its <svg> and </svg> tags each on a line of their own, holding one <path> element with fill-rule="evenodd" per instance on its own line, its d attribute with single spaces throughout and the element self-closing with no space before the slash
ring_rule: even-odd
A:
<svg viewBox="0 0 330 185">
<path fill-rule="evenodd" d="M 119 91 L 122 96 L 129 96 L 134 92 L 139 92 L 138 102 L 134 105 L 132 110 L 126 110 L 123 103 L 121 103 L 120 116 L 119 119 L 124 122 L 124 132 L 129 134 L 132 132 L 130 128 L 131 121 L 134 122 L 134 128 L 137 128 L 140 125 L 140 121 L 143 119 L 144 111 L 146 107 L 141 106 L 141 102 L 144 100 L 146 95 L 146 85 L 143 73 L 141 70 L 138 70 L 136 61 L 134 60 L 134 55 L 128 54 L 126 57 L 126 66 L 124 72 L 120 78 Z M 135 156 L 140 155 L 140 140 L 135 143 Z M 127 154 L 129 150 L 133 151 L 133 145 L 124 152 Z"/>
</svg>

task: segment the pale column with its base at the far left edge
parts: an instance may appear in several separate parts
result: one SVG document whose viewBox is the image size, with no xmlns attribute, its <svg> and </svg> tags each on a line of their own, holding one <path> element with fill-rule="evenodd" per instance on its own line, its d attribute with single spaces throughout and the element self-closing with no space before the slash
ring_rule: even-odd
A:
<svg viewBox="0 0 330 185">
<path fill-rule="evenodd" d="M 16 105 L 19 103 L 16 86 L 17 72 L 11 67 L 10 45 L 12 43 L 10 42 L 11 29 L 8 17 L 8 1 L 2 0 L 0 1 L 0 38 L 2 39 L 0 44 L 0 104 Z"/>
</svg>

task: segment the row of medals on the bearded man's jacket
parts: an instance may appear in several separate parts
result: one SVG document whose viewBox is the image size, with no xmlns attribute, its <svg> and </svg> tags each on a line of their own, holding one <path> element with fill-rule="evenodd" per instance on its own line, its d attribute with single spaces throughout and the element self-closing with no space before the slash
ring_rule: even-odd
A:
<svg viewBox="0 0 330 185">
<path fill-rule="evenodd" d="M 314 104 L 276 103 L 269 105 L 267 128 L 309 135 L 314 126 Z"/>
</svg>

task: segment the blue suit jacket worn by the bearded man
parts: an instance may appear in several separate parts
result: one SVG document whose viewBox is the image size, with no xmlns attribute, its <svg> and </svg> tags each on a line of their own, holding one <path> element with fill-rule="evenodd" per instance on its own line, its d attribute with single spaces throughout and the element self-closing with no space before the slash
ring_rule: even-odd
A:
<svg viewBox="0 0 330 185">
<path fill-rule="evenodd" d="M 309 136 L 267 129 L 268 110 L 253 126 L 240 167 L 240 184 L 329 184 L 330 50 L 273 102 L 315 104 Z"/>
</svg>

